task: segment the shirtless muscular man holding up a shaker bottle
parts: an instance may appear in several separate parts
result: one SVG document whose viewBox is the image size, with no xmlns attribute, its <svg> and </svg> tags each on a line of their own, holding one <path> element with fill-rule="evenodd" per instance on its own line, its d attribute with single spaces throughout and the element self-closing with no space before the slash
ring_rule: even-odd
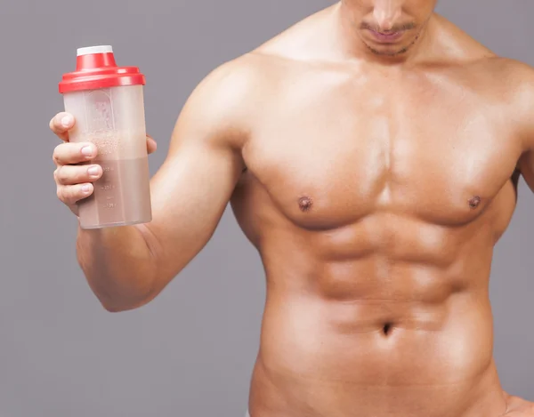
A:
<svg viewBox="0 0 534 417">
<path fill-rule="evenodd" d="M 435 3 L 344 0 L 216 68 L 151 181 L 154 220 L 79 229 L 102 305 L 135 309 L 231 203 L 267 280 L 252 417 L 534 416 L 500 385 L 489 301 L 519 175 L 534 188 L 534 69 Z M 94 148 L 74 123 L 51 128 L 77 213 L 101 170 L 76 165 Z"/>
</svg>

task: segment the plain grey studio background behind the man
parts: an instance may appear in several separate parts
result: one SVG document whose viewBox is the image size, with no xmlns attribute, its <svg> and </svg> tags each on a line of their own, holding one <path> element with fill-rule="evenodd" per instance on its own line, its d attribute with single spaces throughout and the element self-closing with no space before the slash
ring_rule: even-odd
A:
<svg viewBox="0 0 534 417">
<path fill-rule="evenodd" d="M 76 221 L 56 199 L 48 121 L 76 48 L 112 44 L 146 74 L 155 172 L 178 112 L 214 67 L 327 0 L 3 0 L 0 417 L 241 416 L 258 348 L 263 271 L 230 212 L 150 305 L 105 312 L 75 257 Z M 443 0 L 438 11 L 495 52 L 534 64 L 532 0 Z M 534 108 L 533 115 L 534 115 Z M 533 197 L 524 183 L 491 280 L 505 388 L 534 400 Z"/>
</svg>

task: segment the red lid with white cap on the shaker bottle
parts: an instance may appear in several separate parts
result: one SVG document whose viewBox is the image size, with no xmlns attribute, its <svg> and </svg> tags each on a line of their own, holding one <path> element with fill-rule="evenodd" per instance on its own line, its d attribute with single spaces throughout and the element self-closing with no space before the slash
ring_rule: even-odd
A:
<svg viewBox="0 0 534 417">
<path fill-rule="evenodd" d="M 144 84 L 139 68 L 117 67 L 111 46 L 89 46 L 78 48 L 76 71 L 63 75 L 60 92 Z"/>
</svg>

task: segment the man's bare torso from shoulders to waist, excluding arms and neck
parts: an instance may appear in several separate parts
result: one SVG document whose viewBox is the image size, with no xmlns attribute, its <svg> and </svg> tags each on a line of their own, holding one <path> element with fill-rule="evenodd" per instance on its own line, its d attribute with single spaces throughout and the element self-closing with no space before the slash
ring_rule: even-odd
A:
<svg viewBox="0 0 534 417">
<path fill-rule="evenodd" d="M 438 16 L 421 62 L 336 60 L 332 13 L 243 59 L 262 103 L 232 205 L 267 272 L 251 414 L 502 415 L 488 287 L 525 69 Z"/>
</svg>

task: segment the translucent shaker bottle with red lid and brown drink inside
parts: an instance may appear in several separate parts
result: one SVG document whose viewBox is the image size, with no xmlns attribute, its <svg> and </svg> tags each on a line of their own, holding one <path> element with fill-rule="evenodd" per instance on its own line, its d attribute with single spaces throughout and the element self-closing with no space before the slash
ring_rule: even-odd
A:
<svg viewBox="0 0 534 417">
<path fill-rule="evenodd" d="M 72 142 L 92 142 L 103 174 L 94 192 L 78 202 L 82 229 L 148 223 L 152 220 L 150 172 L 143 102 L 144 76 L 117 67 L 111 46 L 77 50 L 75 72 L 59 84 L 65 111 L 76 123 Z"/>
</svg>

